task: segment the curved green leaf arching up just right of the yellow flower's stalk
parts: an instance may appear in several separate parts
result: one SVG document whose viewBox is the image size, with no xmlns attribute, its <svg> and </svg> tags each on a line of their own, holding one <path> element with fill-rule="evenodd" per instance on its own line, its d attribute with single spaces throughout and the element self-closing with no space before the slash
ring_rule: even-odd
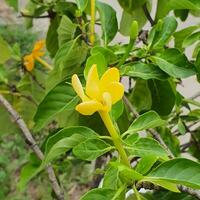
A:
<svg viewBox="0 0 200 200">
<path fill-rule="evenodd" d="M 146 130 L 149 128 L 155 128 L 165 125 L 166 122 L 160 118 L 160 116 L 154 112 L 149 111 L 140 115 L 128 128 L 127 133 L 135 133 L 137 131 Z"/>
</svg>

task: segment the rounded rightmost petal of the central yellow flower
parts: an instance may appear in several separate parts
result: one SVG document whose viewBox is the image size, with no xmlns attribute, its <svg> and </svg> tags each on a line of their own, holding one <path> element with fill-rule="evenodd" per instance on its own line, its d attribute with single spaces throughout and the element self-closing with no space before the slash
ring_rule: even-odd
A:
<svg viewBox="0 0 200 200">
<path fill-rule="evenodd" d="M 112 104 L 115 104 L 117 101 L 122 99 L 124 95 L 124 86 L 119 82 L 110 83 L 105 92 L 108 92 L 112 98 Z"/>
</svg>

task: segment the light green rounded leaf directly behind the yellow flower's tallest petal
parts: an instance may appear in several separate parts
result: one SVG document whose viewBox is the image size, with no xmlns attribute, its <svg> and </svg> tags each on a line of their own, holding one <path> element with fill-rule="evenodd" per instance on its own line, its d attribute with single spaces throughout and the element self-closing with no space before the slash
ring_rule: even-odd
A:
<svg viewBox="0 0 200 200">
<path fill-rule="evenodd" d="M 101 53 L 93 54 L 87 59 L 86 67 L 84 69 L 85 78 L 87 78 L 88 72 L 93 64 L 97 65 L 97 70 L 98 70 L 98 74 L 100 77 L 103 75 L 103 73 L 107 69 L 107 63 L 106 63 L 106 60 L 105 60 L 103 54 L 101 54 Z"/>
</svg>

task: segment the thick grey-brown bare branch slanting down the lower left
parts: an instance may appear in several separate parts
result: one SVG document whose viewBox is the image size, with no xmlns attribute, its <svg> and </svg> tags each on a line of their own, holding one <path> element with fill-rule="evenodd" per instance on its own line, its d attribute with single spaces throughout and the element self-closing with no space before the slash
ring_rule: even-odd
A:
<svg viewBox="0 0 200 200">
<path fill-rule="evenodd" d="M 12 118 L 15 120 L 16 124 L 18 125 L 18 127 L 21 129 L 24 137 L 26 138 L 27 143 L 30 145 L 30 147 L 32 148 L 32 150 L 35 152 L 35 154 L 37 155 L 37 157 L 40 160 L 44 159 L 44 154 L 42 153 L 42 151 L 40 150 L 40 148 L 38 147 L 38 145 L 36 144 L 35 139 L 33 138 L 31 132 L 29 131 L 27 125 L 25 124 L 24 120 L 20 117 L 20 115 L 13 109 L 13 107 L 11 106 L 11 104 L 0 94 L 0 104 L 2 104 L 6 110 L 10 113 L 10 115 L 12 116 Z M 48 172 L 48 176 L 49 176 L 49 180 L 51 182 L 51 186 L 53 191 L 55 192 L 57 199 L 58 200 L 64 200 L 64 193 L 61 190 L 55 172 L 52 168 L 51 165 L 47 165 L 46 166 L 46 170 Z"/>
</svg>

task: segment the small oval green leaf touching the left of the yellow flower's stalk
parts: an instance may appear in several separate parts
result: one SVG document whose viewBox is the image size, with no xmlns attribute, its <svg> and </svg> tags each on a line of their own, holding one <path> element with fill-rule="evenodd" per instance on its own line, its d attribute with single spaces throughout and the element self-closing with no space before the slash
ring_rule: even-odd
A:
<svg viewBox="0 0 200 200">
<path fill-rule="evenodd" d="M 95 160 L 99 156 L 113 149 L 108 143 L 100 139 L 88 139 L 73 148 L 76 157 L 82 160 Z"/>
</svg>

